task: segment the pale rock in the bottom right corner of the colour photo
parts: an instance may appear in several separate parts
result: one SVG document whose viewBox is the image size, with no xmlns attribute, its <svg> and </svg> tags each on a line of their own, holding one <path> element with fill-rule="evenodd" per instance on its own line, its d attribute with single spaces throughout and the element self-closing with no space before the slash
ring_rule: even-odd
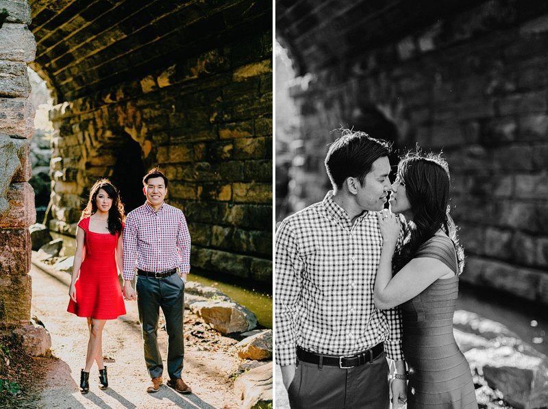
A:
<svg viewBox="0 0 548 409">
<path fill-rule="evenodd" d="M 272 370 L 270 362 L 236 378 L 234 392 L 242 399 L 242 408 L 272 408 Z"/>
</svg>

